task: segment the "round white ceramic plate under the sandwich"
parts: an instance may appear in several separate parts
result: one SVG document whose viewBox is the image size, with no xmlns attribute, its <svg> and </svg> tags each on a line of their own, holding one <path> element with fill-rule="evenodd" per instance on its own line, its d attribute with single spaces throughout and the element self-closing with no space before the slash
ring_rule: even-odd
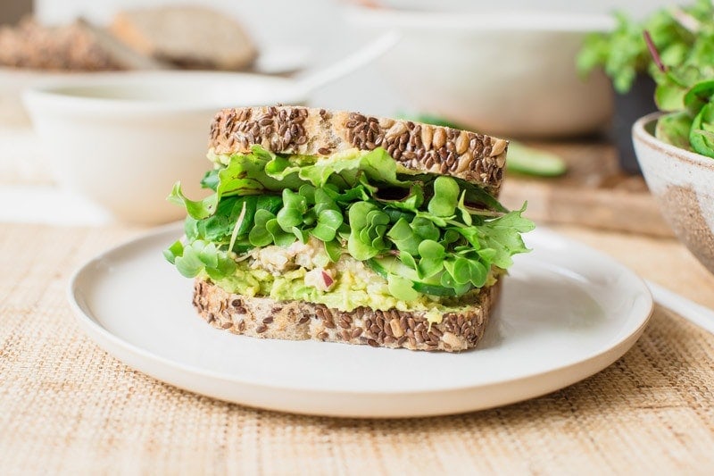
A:
<svg viewBox="0 0 714 476">
<path fill-rule="evenodd" d="M 632 271 L 547 230 L 527 235 L 482 344 L 461 354 L 236 336 L 191 306 L 162 249 L 179 226 L 97 256 L 69 288 L 79 324 L 141 372 L 210 397 L 279 411 L 406 417 L 544 395 L 623 355 L 652 313 Z"/>
</svg>

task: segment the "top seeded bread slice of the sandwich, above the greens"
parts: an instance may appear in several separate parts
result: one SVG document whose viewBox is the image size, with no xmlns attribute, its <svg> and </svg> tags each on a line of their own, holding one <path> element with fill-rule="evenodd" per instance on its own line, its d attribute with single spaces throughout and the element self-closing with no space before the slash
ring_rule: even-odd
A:
<svg viewBox="0 0 714 476">
<path fill-rule="evenodd" d="M 302 106 L 224 109 L 211 125 L 217 154 L 248 152 L 260 144 L 274 153 L 327 155 L 357 147 L 386 148 L 413 171 L 451 175 L 498 196 L 508 141 L 413 121 Z"/>
</svg>

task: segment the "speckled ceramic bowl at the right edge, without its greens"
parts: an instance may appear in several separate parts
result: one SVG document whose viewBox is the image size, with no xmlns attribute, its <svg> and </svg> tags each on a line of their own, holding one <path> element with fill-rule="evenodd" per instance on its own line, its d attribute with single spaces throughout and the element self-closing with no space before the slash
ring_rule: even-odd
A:
<svg viewBox="0 0 714 476">
<path fill-rule="evenodd" d="M 677 238 L 714 273 L 714 159 L 655 138 L 659 115 L 646 115 L 632 128 L 637 161 Z"/>
</svg>

